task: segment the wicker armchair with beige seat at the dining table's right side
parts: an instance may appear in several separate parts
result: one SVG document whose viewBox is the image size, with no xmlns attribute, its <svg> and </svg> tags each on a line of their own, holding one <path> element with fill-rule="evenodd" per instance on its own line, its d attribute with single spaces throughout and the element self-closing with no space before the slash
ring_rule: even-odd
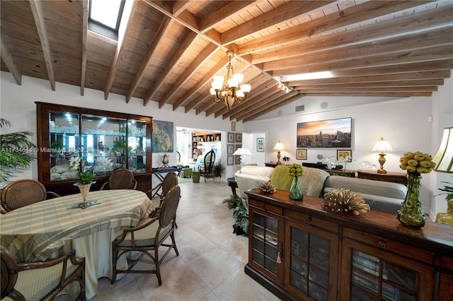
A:
<svg viewBox="0 0 453 301">
<path fill-rule="evenodd" d="M 175 186 L 168 191 L 165 196 L 165 201 L 162 202 L 162 208 L 157 216 L 149 216 L 140 220 L 133 228 L 125 228 L 122 230 L 122 235 L 118 236 L 112 242 L 112 263 L 113 276 L 112 283 L 115 283 L 118 273 L 155 273 L 159 285 L 162 284 L 160 265 L 166 258 L 171 249 L 174 249 L 176 256 L 179 256 L 178 248 L 175 242 L 175 216 L 176 209 L 180 200 L 180 187 Z M 165 243 L 167 237 L 171 237 L 171 244 Z M 166 247 L 164 256 L 159 256 L 160 247 Z M 137 259 L 129 261 L 129 267 L 126 270 L 117 269 L 117 261 L 121 256 L 127 256 L 128 252 L 138 252 Z M 134 269 L 134 266 L 139 263 L 140 259 L 147 255 L 154 264 L 149 266 L 149 269 Z M 139 264 L 139 267 L 145 268 L 144 262 Z"/>
</svg>

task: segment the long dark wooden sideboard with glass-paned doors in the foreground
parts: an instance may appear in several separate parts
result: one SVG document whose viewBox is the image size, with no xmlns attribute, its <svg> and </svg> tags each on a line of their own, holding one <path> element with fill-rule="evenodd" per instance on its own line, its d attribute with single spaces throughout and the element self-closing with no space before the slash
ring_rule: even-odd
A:
<svg viewBox="0 0 453 301">
<path fill-rule="evenodd" d="M 396 216 L 327 213 L 322 199 L 246 191 L 245 272 L 282 300 L 449 300 L 453 228 Z"/>
</svg>

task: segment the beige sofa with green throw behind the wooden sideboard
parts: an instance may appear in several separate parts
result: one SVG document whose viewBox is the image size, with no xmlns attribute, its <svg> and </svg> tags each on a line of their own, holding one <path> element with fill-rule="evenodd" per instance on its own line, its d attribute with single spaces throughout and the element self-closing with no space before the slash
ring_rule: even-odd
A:
<svg viewBox="0 0 453 301">
<path fill-rule="evenodd" d="M 247 201 L 244 191 L 258 187 L 260 182 L 271 181 L 275 188 L 289 190 L 292 177 L 286 172 L 286 166 L 263 167 L 244 166 L 234 175 L 240 196 Z M 299 184 L 304 195 L 322 197 L 326 192 L 336 188 L 350 189 L 359 194 L 372 210 L 396 214 L 406 198 L 406 187 L 403 184 L 340 177 L 328 175 L 328 172 L 317 168 L 303 167 L 304 175 L 299 177 Z M 283 177 L 286 177 L 283 179 Z"/>
</svg>

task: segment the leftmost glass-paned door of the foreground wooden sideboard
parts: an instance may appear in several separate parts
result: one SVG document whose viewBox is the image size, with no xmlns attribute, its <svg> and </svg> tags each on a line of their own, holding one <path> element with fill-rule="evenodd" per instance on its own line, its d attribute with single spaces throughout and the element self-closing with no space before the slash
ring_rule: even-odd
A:
<svg viewBox="0 0 453 301">
<path fill-rule="evenodd" d="M 282 218 L 271 213 L 252 211 L 251 261 L 270 277 L 282 277 Z"/>
</svg>

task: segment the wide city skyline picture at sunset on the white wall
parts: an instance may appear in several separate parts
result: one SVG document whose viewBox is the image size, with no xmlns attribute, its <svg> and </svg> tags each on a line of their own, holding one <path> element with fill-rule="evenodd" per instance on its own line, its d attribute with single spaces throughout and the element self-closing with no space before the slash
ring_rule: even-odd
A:
<svg viewBox="0 0 453 301">
<path fill-rule="evenodd" d="M 297 148 L 350 148 L 352 118 L 299 122 Z"/>
</svg>

